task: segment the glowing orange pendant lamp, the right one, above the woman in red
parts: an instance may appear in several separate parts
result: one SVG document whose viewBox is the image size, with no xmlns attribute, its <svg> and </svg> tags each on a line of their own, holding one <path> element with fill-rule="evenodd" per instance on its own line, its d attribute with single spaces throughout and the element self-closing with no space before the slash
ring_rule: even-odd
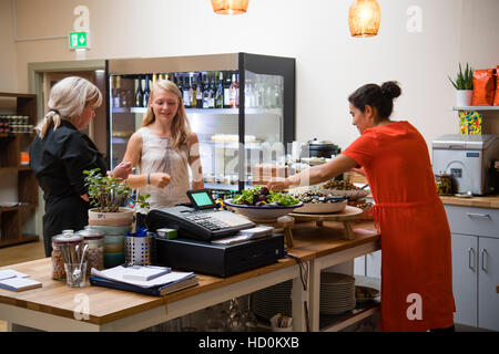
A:
<svg viewBox="0 0 499 354">
<path fill-rule="evenodd" d="M 348 27 L 352 37 L 378 34 L 381 10 L 376 0 L 354 0 L 348 10 Z"/>
</svg>

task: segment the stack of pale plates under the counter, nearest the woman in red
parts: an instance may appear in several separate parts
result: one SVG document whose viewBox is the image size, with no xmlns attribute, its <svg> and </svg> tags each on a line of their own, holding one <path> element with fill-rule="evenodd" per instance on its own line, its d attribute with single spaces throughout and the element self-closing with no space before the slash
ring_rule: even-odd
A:
<svg viewBox="0 0 499 354">
<path fill-rule="evenodd" d="M 355 308 L 355 278 L 320 273 L 320 313 L 338 314 Z"/>
</svg>

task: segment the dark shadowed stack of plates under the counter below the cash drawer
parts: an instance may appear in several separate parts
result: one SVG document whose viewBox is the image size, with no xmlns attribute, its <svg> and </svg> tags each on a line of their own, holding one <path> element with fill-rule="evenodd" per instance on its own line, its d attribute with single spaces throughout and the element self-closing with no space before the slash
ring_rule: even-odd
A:
<svg viewBox="0 0 499 354">
<path fill-rule="evenodd" d="M 292 316 L 292 289 L 293 281 L 288 280 L 254 292 L 252 311 L 265 321 L 269 321 L 277 313 Z"/>
</svg>

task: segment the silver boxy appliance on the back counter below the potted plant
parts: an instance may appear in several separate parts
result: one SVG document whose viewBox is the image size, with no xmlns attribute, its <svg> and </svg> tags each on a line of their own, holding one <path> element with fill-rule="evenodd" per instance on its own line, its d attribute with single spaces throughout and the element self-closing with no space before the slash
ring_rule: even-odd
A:
<svg viewBox="0 0 499 354">
<path fill-rule="evenodd" d="M 450 174 L 455 191 L 497 192 L 495 160 L 499 159 L 499 135 L 444 135 L 432 142 L 434 174 Z"/>
</svg>

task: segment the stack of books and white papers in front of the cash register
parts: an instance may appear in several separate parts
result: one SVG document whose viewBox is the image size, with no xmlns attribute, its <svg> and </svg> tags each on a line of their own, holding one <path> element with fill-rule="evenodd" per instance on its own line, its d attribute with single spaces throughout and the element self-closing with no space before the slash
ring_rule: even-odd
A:
<svg viewBox="0 0 499 354">
<path fill-rule="evenodd" d="M 191 288 L 198 282 L 193 272 L 176 272 L 167 267 L 155 266 L 118 266 L 102 271 L 92 268 L 89 280 L 92 285 L 154 296 Z"/>
</svg>

